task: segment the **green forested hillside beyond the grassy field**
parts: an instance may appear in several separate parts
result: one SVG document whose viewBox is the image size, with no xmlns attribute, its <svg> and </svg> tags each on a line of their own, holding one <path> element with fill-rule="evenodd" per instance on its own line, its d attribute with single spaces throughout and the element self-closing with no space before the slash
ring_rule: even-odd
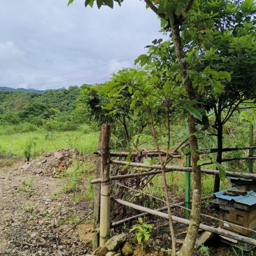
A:
<svg viewBox="0 0 256 256">
<path fill-rule="evenodd" d="M 30 127 L 76 129 L 76 125 L 82 122 L 80 116 L 76 115 L 79 92 L 77 86 L 48 90 L 41 94 L 3 90 L 0 92 L 1 125 L 29 123 Z"/>
</svg>

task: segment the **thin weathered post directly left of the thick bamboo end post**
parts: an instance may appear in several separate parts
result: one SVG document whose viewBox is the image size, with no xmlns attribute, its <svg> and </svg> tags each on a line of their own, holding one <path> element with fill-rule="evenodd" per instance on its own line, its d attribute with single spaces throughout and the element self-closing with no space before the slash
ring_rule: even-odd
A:
<svg viewBox="0 0 256 256">
<path fill-rule="evenodd" d="M 98 143 L 98 148 L 101 148 L 101 131 L 99 132 L 99 143 Z M 97 162 L 96 162 L 96 173 L 95 173 L 95 178 L 101 178 L 101 157 L 97 157 Z M 100 218 L 100 211 L 99 211 L 99 206 L 100 206 L 100 190 L 101 190 L 101 184 L 97 183 L 95 185 L 95 190 L 94 190 L 94 223 L 93 227 L 94 229 L 99 228 L 99 218 Z M 92 239 L 92 250 L 96 250 L 99 247 L 99 234 L 95 234 Z"/>
</svg>

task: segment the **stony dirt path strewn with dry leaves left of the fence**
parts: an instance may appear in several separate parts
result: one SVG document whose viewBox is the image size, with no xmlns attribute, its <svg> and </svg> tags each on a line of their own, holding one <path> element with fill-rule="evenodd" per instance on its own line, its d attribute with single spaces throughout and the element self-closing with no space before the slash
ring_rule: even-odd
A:
<svg viewBox="0 0 256 256">
<path fill-rule="evenodd" d="M 63 179 L 33 171 L 42 159 L 33 166 L 17 160 L 0 167 L 0 255 L 85 255 L 90 221 L 71 228 L 90 213 L 89 204 L 66 196 Z"/>
</svg>

